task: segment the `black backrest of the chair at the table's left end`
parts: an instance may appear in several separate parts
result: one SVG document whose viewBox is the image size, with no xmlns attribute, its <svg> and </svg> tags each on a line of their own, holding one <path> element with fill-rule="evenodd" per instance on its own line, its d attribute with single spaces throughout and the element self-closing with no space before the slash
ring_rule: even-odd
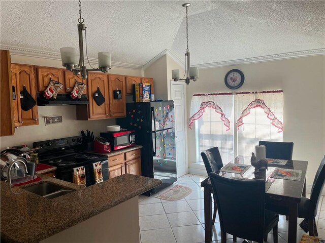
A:
<svg viewBox="0 0 325 243">
<path fill-rule="evenodd" d="M 208 175 L 211 172 L 217 173 L 223 167 L 218 147 L 213 147 L 202 151 L 201 157 Z"/>
</svg>

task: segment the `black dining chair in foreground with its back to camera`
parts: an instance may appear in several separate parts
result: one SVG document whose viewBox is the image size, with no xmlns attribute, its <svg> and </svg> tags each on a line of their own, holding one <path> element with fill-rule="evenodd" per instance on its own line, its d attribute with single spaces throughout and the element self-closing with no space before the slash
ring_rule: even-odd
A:
<svg viewBox="0 0 325 243">
<path fill-rule="evenodd" d="M 218 205 L 221 242 L 226 233 L 262 243 L 273 229 L 278 242 L 279 215 L 265 209 L 265 181 L 229 179 L 209 174 L 213 195 Z"/>
</svg>

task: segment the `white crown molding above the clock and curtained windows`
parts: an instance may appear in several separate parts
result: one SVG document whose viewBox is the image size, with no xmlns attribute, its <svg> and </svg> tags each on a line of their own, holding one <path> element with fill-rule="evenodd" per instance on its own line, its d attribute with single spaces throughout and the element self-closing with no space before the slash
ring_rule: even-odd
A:
<svg viewBox="0 0 325 243">
<path fill-rule="evenodd" d="M 224 61 L 224 62 L 197 64 L 194 66 L 203 69 L 203 68 L 223 67 L 223 66 L 231 66 L 231 65 L 239 65 L 239 64 L 249 64 L 249 63 L 256 63 L 256 62 L 267 62 L 267 61 L 297 58 L 297 57 L 316 56 L 316 55 L 324 55 L 324 54 L 325 54 L 325 48 L 321 48 L 321 49 L 314 49 L 308 51 L 287 52 L 287 53 L 281 53 L 275 55 L 244 58 L 244 59 L 237 59 L 237 60 Z"/>
</svg>

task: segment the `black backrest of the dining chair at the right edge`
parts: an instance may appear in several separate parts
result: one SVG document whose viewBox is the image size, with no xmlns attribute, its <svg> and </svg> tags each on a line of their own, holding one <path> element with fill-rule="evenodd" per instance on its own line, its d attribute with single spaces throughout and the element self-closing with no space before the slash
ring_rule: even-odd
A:
<svg viewBox="0 0 325 243">
<path fill-rule="evenodd" d="M 321 191 L 324 187 L 325 181 L 325 156 L 320 162 L 316 172 L 313 185 L 310 191 L 310 200 L 308 207 L 308 218 L 312 219 L 317 215 L 317 207 Z"/>
</svg>

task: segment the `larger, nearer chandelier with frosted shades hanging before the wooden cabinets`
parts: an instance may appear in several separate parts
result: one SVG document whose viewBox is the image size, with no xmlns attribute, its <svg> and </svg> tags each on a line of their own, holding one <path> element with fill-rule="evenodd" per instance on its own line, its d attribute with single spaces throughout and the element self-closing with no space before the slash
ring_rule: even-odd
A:
<svg viewBox="0 0 325 243">
<path fill-rule="evenodd" d="M 78 18 L 78 35 L 79 35 L 79 64 L 77 66 L 78 56 L 77 51 L 73 47 L 63 47 L 60 48 L 62 65 L 68 70 L 72 71 L 75 75 L 81 74 L 82 79 L 86 79 L 88 76 L 88 71 L 102 71 L 108 72 L 111 69 L 111 53 L 109 52 L 99 52 L 98 53 L 98 68 L 93 68 L 88 60 L 87 54 L 87 35 L 86 35 L 86 26 L 83 23 L 84 19 L 81 17 L 81 2 L 79 0 L 79 14 Z M 89 66 L 92 69 L 87 69 L 85 66 L 84 53 L 83 53 L 83 32 L 85 31 L 85 44 L 86 44 L 86 57 Z"/>
</svg>

